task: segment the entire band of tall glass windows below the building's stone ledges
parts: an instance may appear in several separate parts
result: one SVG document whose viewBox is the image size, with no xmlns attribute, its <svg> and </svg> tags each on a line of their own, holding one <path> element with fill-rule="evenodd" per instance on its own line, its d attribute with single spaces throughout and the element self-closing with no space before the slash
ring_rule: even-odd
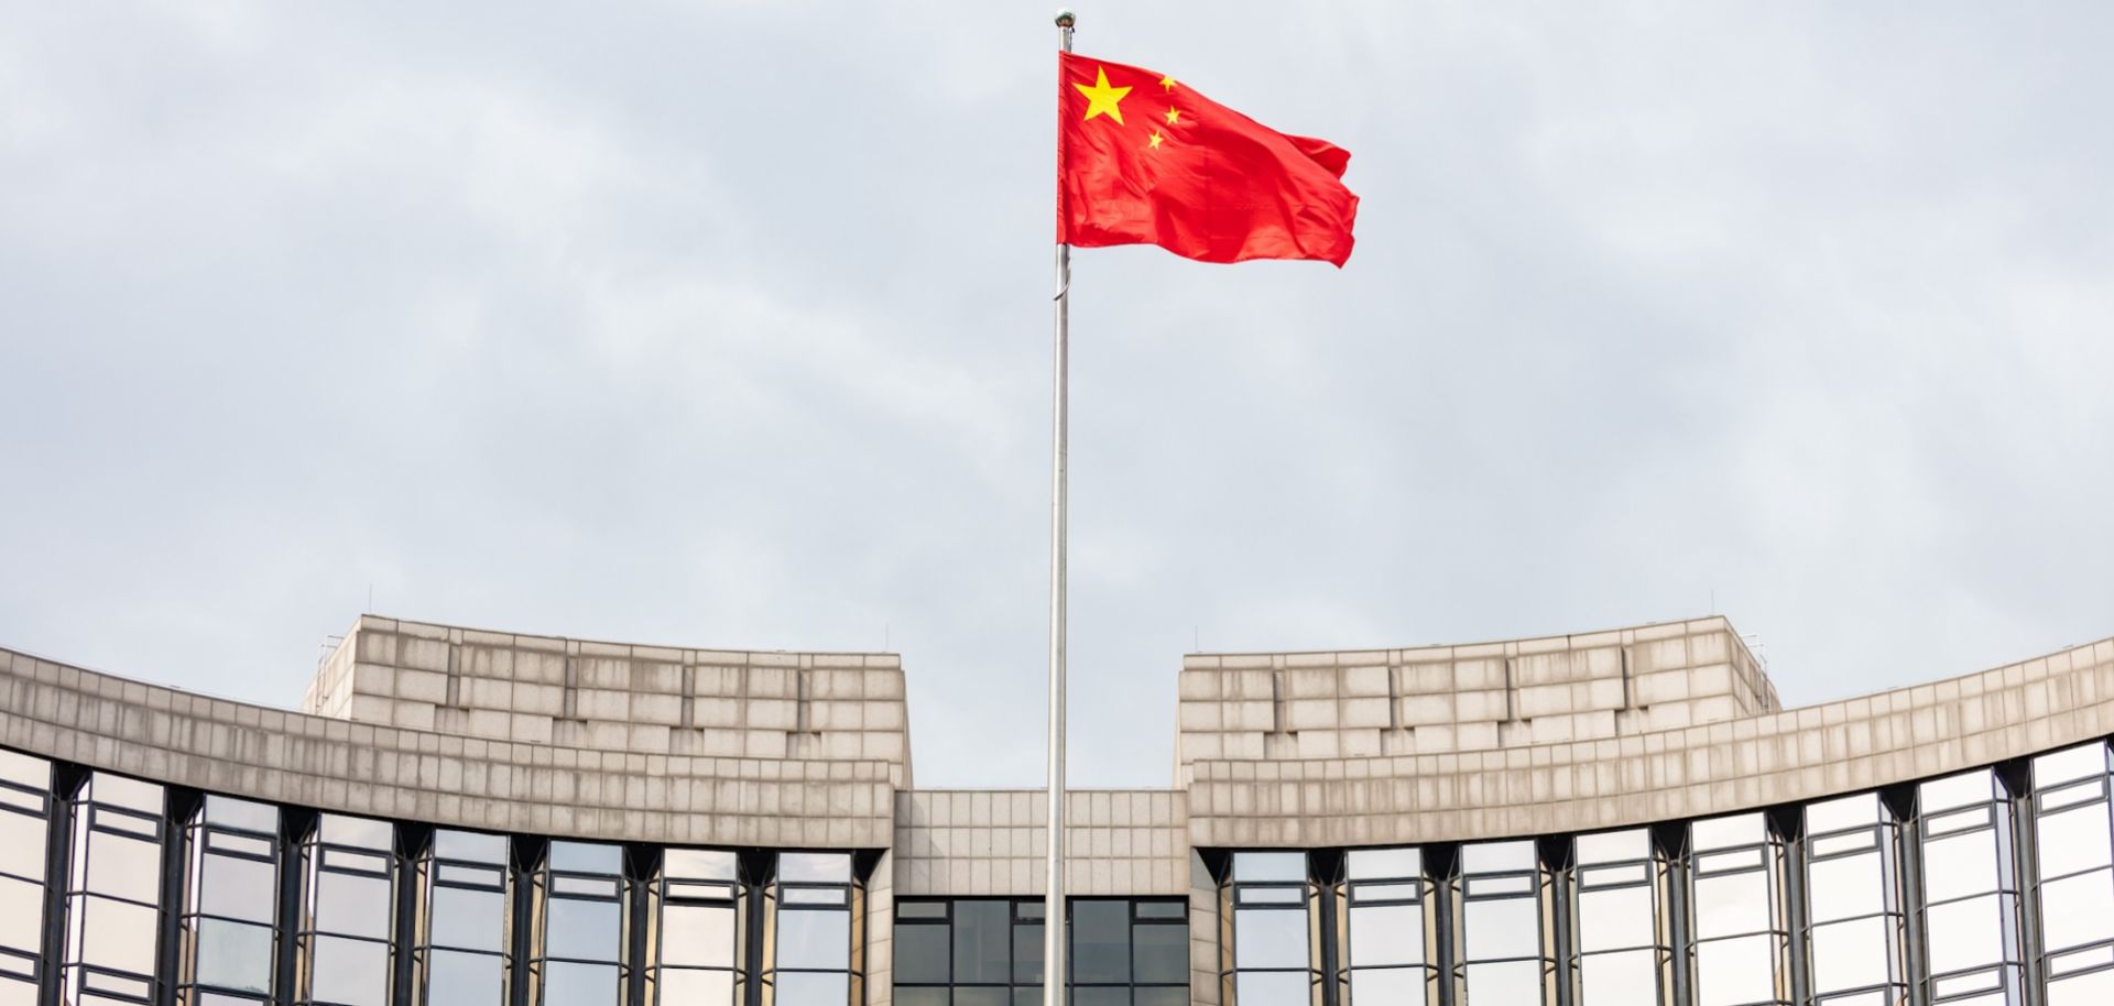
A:
<svg viewBox="0 0 2114 1006">
<path fill-rule="evenodd" d="M 879 862 L 427 828 L 0 752 L 0 1006 L 860 1006 Z M 1197 1002 L 1192 964 L 1220 1006 L 2114 1002 L 2106 744 L 1651 828 L 1199 862 L 1201 932 L 1177 896 L 1068 902 L 1070 1002 Z M 1040 907 L 890 902 L 888 993 L 1038 1006 Z"/>
</svg>

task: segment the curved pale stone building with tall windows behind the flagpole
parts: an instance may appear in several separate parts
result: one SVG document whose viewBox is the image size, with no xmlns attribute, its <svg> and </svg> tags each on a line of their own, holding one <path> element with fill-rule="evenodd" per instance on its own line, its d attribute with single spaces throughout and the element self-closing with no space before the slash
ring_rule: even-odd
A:
<svg viewBox="0 0 2114 1006">
<path fill-rule="evenodd" d="M 361 617 L 302 712 L 0 651 L 0 1006 L 1040 1002 L 888 653 Z M 1078 1006 L 2114 1002 L 2114 640 L 1782 710 L 1725 619 L 1190 655 Z"/>
</svg>

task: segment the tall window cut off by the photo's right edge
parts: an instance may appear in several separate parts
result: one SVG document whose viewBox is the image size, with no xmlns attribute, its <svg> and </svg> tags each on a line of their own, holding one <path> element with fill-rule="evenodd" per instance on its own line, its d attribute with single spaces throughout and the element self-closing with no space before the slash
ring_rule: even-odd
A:
<svg viewBox="0 0 2114 1006">
<path fill-rule="evenodd" d="M 2114 1002 L 2114 828 L 2103 742 L 2034 759 L 2040 968 L 2048 1006 Z"/>
</svg>

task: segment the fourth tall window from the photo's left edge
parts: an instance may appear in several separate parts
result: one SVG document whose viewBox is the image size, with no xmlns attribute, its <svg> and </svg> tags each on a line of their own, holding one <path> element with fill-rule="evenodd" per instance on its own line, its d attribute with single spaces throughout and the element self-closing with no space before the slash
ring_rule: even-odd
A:
<svg viewBox="0 0 2114 1006">
<path fill-rule="evenodd" d="M 323 814 L 300 850 L 300 1002 L 385 1006 L 395 972 L 395 828 Z"/>
</svg>

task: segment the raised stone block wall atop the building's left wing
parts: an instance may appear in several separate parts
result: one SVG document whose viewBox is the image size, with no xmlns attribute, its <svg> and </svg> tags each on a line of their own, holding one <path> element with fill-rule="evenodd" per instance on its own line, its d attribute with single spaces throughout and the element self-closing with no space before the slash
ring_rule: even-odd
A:
<svg viewBox="0 0 2114 1006">
<path fill-rule="evenodd" d="M 884 761 L 911 784 L 894 653 L 757 653 L 361 615 L 302 710 L 387 727 L 717 759 Z"/>
</svg>

